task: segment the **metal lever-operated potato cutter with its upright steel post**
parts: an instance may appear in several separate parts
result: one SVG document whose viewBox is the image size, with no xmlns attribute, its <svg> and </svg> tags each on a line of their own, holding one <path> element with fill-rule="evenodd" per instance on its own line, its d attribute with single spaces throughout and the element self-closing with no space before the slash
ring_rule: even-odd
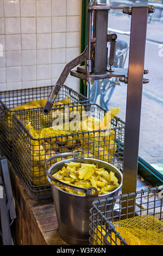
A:
<svg viewBox="0 0 163 256">
<path fill-rule="evenodd" d="M 129 64 L 126 69 L 112 67 L 117 35 L 108 34 L 108 13 L 111 9 L 120 9 L 124 14 L 131 15 Z M 87 10 L 87 47 L 82 54 L 65 66 L 48 97 L 43 113 L 48 114 L 51 111 L 69 74 L 86 82 L 119 77 L 121 82 L 128 84 L 122 193 L 131 193 L 136 191 L 137 182 L 142 84 L 149 82 L 143 78 L 144 74 L 148 74 L 148 71 L 144 70 L 147 19 L 148 13 L 154 13 L 154 7 L 148 3 L 134 3 L 131 7 L 114 7 L 90 0 Z M 109 69 L 108 42 L 110 42 Z M 78 66 L 82 62 L 85 62 L 85 65 Z M 72 70 L 76 66 L 78 66 L 77 70 Z"/>
</svg>

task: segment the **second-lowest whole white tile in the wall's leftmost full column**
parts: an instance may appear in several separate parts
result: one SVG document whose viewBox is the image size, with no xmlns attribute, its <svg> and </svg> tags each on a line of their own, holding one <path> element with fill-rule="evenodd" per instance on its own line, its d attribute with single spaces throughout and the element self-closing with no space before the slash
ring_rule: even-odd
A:
<svg viewBox="0 0 163 256">
<path fill-rule="evenodd" d="M 21 51 L 6 52 L 7 66 L 21 66 Z"/>
</svg>

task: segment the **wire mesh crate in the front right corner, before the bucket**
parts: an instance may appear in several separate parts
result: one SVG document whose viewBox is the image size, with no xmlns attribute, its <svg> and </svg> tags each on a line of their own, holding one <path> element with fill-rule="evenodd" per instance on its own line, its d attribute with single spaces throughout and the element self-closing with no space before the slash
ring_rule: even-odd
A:
<svg viewBox="0 0 163 256">
<path fill-rule="evenodd" d="M 93 202 L 91 245 L 163 245 L 163 186 Z"/>
</svg>

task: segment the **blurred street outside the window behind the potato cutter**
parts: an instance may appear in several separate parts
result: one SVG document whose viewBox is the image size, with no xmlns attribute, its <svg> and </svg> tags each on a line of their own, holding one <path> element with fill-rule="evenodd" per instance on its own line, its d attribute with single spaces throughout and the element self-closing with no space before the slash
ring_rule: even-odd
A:
<svg viewBox="0 0 163 256">
<path fill-rule="evenodd" d="M 122 11 L 109 13 L 109 30 L 113 32 L 130 32 L 130 17 L 122 14 Z M 127 42 L 129 46 L 130 37 L 127 34 L 117 33 L 118 39 Z M 124 68 L 128 67 L 128 56 Z M 142 113 L 140 129 L 139 155 L 148 163 L 163 164 L 163 23 L 161 20 L 154 20 L 147 26 L 147 42 L 145 69 L 149 74 L 145 78 L 149 79 L 148 84 L 143 84 Z M 126 119 L 126 97 L 127 84 L 121 83 L 115 87 L 114 93 L 108 103 L 108 110 L 120 107 L 118 114 L 122 120 Z M 96 103 L 99 104 L 100 95 L 97 96 Z M 134 117 L 133 117 L 134 119 Z"/>
</svg>

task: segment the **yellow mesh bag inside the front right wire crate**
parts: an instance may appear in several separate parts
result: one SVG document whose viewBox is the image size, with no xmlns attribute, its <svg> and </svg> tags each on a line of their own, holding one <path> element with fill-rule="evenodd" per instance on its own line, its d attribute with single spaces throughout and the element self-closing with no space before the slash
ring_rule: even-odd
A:
<svg viewBox="0 0 163 256">
<path fill-rule="evenodd" d="M 120 233 L 120 236 L 125 239 L 128 245 L 163 245 L 163 223 L 158 218 L 149 215 L 136 216 L 128 218 L 126 220 L 117 221 L 112 223 L 115 230 Z M 94 244 L 101 245 L 101 239 L 97 239 L 97 236 L 105 236 L 105 226 L 98 227 L 95 230 L 97 235 L 94 236 Z M 116 241 L 117 245 L 121 245 L 120 239 L 115 237 L 115 233 L 112 231 L 112 240 Z M 96 243 L 97 241 L 97 243 Z M 103 239 L 102 239 L 103 241 Z M 107 241 L 112 245 L 115 242 L 108 236 Z"/>
</svg>

